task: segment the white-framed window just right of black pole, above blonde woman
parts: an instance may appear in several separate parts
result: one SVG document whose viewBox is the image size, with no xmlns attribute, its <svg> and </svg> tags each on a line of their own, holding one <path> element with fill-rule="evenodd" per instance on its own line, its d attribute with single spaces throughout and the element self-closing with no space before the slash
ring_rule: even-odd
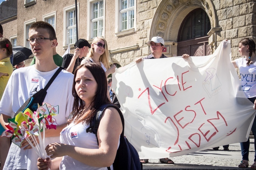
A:
<svg viewBox="0 0 256 170">
<path fill-rule="evenodd" d="M 87 19 L 90 21 L 87 25 L 88 39 L 104 36 L 105 25 L 105 1 L 104 0 L 89 0 Z"/>
</svg>

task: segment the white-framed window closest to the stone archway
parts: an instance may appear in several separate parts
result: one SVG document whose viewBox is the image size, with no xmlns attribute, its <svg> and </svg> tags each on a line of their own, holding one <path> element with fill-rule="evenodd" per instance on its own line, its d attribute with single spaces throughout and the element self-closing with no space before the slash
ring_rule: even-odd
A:
<svg viewBox="0 0 256 170">
<path fill-rule="evenodd" d="M 116 36 L 135 32 L 136 0 L 116 0 Z"/>
</svg>

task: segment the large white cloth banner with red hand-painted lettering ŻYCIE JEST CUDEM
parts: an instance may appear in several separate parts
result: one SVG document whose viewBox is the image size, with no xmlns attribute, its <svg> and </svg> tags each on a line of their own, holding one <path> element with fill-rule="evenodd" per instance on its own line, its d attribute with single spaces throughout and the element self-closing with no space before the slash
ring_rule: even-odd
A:
<svg viewBox="0 0 256 170">
<path fill-rule="evenodd" d="M 113 74 L 125 135 L 140 158 L 163 158 L 247 141 L 255 116 L 231 48 L 213 55 L 142 60 Z"/>
</svg>

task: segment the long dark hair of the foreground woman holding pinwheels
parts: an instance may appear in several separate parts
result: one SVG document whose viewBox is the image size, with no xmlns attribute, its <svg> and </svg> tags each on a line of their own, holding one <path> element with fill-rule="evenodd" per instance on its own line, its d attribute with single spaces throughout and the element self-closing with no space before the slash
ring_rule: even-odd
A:
<svg viewBox="0 0 256 170">
<path fill-rule="evenodd" d="M 94 96 L 93 101 L 91 102 L 91 108 L 85 113 L 86 106 L 85 102 L 80 99 L 75 90 L 75 78 L 77 71 L 81 68 L 87 68 L 91 74 L 93 74 L 94 79 L 96 80 L 98 87 L 96 90 L 96 94 Z M 94 115 L 102 104 L 110 103 L 108 96 L 108 84 L 106 79 L 105 71 L 95 63 L 85 63 L 80 65 L 75 69 L 74 79 L 73 79 L 73 88 L 72 95 L 74 96 L 73 110 L 72 110 L 72 118 L 68 123 L 74 121 L 76 124 L 80 122 L 86 122 L 87 124 L 91 123 Z"/>
</svg>

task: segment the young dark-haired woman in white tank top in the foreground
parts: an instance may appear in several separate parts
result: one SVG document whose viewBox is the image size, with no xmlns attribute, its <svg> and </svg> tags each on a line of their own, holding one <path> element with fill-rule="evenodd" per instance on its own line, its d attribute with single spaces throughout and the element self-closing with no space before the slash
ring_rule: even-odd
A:
<svg viewBox="0 0 256 170">
<path fill-rule="evenodd" d="M 110 103 L 107 89 L 106 75 L 99 65 L 86 63 L 77 67 L 72 89 L 72 118 L 60 133 L 61 143 L 45 148 L 47 155 L 55 159 L 38 158 L 39 169 L 113 169 L 122 132 L 118 111 L 108 107 L 103 112 L 97 132 L 99 145 L 95 134 L 86 132 L 99 107 Z"/>
</svg>

